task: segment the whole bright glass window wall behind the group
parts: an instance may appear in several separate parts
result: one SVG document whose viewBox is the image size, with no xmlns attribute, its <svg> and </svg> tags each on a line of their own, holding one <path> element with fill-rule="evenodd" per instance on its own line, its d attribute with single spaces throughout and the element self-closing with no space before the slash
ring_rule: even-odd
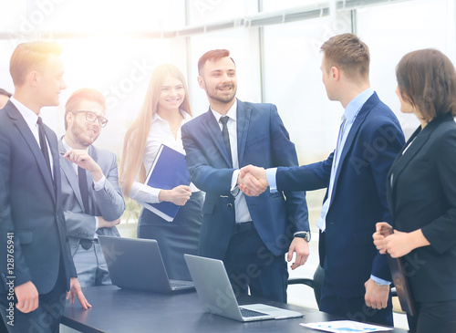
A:
<svg viewBox="0 0 456 333">
<path fill-rule="evenodd" d="M 439 48 L 456 62 L 455 3 L 409 0 L 365 6 L 368 2 L 360 1 L 362 7 L 336 11 L 335 0 L 0 0 L 0 87 L 14 89 L 8 64 L 18 43 L 57 39 L 65 49 L 68 85 L 62 104 L 77 88 L 101 90 L 110 121 L 98 144 L 119 153 L 155 66 L 171 62 L 181 68 L 193 112 L 199 115 L 208 102 L 197 84 L 197 61 L 207 50 L 227 48 L 238 69 L 238 98 L 275 103 L 300 162 L 306 163 L 334 149 L 342 114 L 321 82 L 321 44 L 352 29 L 368 43 L 372 86 L 409 135 L 418 123 L 399 113 L 394 68 L 405 53 L 423 47 Z M 281 13 L 322 7 L 329 15 L 280 23 Z M 251 19 L 264 16 L 279 19 L 250 26 Z M 63 133 L 62 106 L 43 115 L 57 134 Z"/>
</svg>

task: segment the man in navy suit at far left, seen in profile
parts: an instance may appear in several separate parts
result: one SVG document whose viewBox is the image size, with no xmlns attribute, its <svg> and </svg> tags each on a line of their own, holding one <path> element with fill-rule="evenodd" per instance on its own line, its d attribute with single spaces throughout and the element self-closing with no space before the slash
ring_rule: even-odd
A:
<svg viewBox="0 0 456 333">
<path fill-rule="evenodd" d="M 16 47 L 16 91 L 0 111 L 0 313 L 10 332 L 57 332 L 68 296 L 90 307 L 67 243 L 57 137 L 39 117 L 67 88 L 60 53 L 56 43 Z"/>
</svg>

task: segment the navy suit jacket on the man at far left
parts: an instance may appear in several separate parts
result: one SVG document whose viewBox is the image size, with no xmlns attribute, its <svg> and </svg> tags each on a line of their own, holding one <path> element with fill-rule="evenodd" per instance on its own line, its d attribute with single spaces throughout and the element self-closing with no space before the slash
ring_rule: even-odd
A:
<svg viewBox="0 0 456 333">
<path fill-rule="evenodd" d="M 7 233 L 14 234 L 15 285 L 32 281 L 39 294 L 55 285 L 64 264 L 67 290 L 76 269 L 69 252 L 62 210 L 57 136 L 45 125 L 54 182 L 38 143 L 11 101 L 0 110 L 0 271 L 5 276 Z M 0 283 L 0 293 L 5 293 Z"/>
</svg>

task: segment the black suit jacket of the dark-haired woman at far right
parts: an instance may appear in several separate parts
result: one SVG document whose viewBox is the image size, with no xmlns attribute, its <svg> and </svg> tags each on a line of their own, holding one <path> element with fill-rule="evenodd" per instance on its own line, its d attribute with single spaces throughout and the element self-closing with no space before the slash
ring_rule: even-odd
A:
<svg viewBox="0 0 456 333">
<path fill-rule="evenodd" d="M 409 145 L 407 151 L 402 151 Z M 415 301 L 456 299 L 456 124 L 451 115 L 410 137 L 388 175 L 394 227 L 421 229 L 429 246 L 403 259 Z"/>
</svg>

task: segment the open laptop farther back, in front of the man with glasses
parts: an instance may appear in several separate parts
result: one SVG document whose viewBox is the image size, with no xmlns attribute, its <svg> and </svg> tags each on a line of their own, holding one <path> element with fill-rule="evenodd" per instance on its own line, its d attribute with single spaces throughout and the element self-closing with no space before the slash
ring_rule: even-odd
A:
<svg viewBox="0 0 456 333">
<path fill-rule="evenodd" d="M 194 289 L 192 281 L 170 280 L 156 240 L 98 235 L 112 284 L 160 293 Z"/>
</svg>

